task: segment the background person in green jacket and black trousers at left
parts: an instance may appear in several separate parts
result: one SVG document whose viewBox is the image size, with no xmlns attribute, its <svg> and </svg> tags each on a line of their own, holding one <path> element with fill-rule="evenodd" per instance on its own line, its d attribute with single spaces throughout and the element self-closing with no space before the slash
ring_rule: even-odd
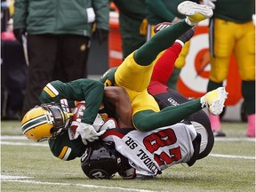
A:
<svg viewBox="0 0 256 192">
<path fill-rule="evenodd" d="M 39 94 L 48 82 L 87 76 L 92 24 L 100 43 L 107 39 L 109 4 L 108 0 L 19 0 L 14 7 L 14 35 L 20 42 L 26 32 L 28 36 L 23 116 L 40 104 Z"/>
</svg>

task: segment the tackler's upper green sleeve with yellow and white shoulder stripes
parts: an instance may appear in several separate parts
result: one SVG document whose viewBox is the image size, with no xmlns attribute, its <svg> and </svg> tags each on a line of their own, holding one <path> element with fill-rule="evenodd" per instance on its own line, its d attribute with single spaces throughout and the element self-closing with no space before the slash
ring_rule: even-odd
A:
<svg viewBox="0 0 256 192">
<path fill-rule="evenodd" d="M 91 79 L 77 79 L 68 83 L 53 81 L 44 87 L 39 100 L 42 103 L 60 103 L 62 108 L 74 108 L 75 101 L 85 101 L 81 122 L 93 124 L 103 100 L 104 84 Z"/>
</svg>

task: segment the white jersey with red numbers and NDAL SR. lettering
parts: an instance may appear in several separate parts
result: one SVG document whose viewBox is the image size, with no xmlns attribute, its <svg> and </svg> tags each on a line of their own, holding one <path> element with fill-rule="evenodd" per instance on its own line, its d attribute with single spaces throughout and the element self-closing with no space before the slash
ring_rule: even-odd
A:
<svg viewBox="0 0 256 192">
<path fill-rule="evenodd" d="M 116 150 L 136 169 L 137 178 L 155 177 L 173 164 L 188 162 L 194 154 L 196 130 L 192 124 L 179 123 L 150 132 L 113 129 L 101 138 L 115 142 Z"/>
</svg>

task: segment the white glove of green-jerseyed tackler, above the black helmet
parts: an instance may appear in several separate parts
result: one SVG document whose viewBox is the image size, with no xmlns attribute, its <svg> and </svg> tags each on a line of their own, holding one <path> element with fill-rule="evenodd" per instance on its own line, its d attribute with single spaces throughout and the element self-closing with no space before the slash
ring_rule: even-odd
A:
<svg viewBox="0 0 256 192">
<path fill-rule="evenodd" d="M 80 123 L 76 128 L 75 139 L 80 135 L 84 145 L 87 144 L 87 140 L 92 142 L 94 140 L 99 140 L 99 136 L 102 135 L 106 130 L 101 132 L 96 132 L 91 124 Z"/>
</svg>

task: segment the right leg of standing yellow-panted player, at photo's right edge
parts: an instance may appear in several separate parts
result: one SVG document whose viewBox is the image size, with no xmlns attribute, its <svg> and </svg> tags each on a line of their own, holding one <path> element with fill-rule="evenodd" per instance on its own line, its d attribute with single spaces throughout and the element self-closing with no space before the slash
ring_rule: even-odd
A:
<svg viewBox="0 0 256 192">
<path fill-rule="evenodd" d="M 235 47 L 236 61 L 242 79 L 242 94 L 247 115 L 248 137 L 255 137 L 255 30 L 252 22 L 237 24 L 243 28 Z"/>
</svg>

